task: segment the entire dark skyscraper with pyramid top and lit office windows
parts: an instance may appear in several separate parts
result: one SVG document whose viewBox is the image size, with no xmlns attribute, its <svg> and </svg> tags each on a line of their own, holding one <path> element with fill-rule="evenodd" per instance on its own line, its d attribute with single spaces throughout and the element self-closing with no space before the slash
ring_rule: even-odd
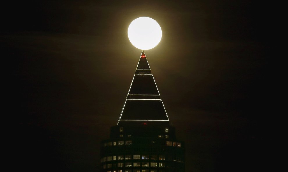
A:
<svg viewBox="0 0 288 172">
<path fill-rule="evenodd" d="M 143 51 L 118 123 L 101 142 L 101 171 L 184 172 L 184 152 Z"/>
</svg>

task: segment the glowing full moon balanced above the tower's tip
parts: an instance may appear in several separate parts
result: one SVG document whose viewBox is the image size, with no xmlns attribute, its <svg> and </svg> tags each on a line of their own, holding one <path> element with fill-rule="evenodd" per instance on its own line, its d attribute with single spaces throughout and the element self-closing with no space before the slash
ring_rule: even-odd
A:
<svg viewBox="0 0 288 172">
<path fill-rule="evenodd" d="M 161 27 L 152 18 L 139 17 L 129 25 L 128 38 L 131 44 L 138 49 L 152 49 L 162 38 Z"/>
</svg>

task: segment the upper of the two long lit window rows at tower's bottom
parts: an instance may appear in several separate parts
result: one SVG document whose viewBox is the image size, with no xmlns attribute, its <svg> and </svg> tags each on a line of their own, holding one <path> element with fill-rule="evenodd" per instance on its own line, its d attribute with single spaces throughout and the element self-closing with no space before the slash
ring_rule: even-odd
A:
<svg viewBox="0 0 288 172">
<path fill-rule="evenodd" d="M 157 160 L 157 155 L 133 155 L 133 159 L 152 159 L 152 160 Z M 103 157 L 101 158 L 101 162 L 106 162 L 106 161 L 112 161 L 112 160 L 123 160 L 123 159 L 132 159 L 131 155 L 118 155 L 118 156 L 109 156 L 109 157 Z M 165 155 L 159 155 L 159 160 L 165 160 Z"/>
</svg>

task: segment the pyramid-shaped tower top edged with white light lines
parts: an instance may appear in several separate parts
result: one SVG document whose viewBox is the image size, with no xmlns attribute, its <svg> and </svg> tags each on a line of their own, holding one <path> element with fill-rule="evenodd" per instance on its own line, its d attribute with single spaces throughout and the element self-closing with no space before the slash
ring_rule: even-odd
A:
<svg viewBox="0 0 288 172">
<path fill-rule="evenodd" d="M 144 51 L 117 125 L 128 121 L 169 121 Z"/>
</svg>

